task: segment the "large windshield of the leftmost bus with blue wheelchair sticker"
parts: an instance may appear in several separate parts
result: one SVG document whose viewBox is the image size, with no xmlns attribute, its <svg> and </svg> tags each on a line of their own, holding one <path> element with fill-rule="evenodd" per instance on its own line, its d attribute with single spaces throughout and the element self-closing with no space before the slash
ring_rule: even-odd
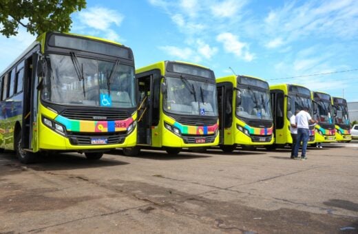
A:
<svg viewBox="0 0 358 234">
<path fill-rule="evenodd" d="M 41 97 L 61 105 L 136 107 L 134 67 L 71 54 L 50 54 Z"/>
</svg>

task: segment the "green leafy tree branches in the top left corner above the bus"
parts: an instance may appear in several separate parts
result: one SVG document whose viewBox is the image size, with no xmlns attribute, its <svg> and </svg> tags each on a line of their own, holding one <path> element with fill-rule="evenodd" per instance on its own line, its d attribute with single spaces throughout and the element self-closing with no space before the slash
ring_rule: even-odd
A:
<svg viewBox="0 0 358 234">
<path fill-rule="evenodd" d="M 0 32 L 16 36 L 19 25 L 33 35 L 68 32 L 70 14 L 85 7 L 85 0 L 0 0 Z"/>
</svg>

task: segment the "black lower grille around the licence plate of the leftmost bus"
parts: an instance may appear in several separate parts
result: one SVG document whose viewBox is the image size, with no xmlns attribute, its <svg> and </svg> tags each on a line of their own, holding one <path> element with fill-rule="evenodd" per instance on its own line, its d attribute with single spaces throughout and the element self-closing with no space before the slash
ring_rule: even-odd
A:
<svg viewBox="0 0 358 234">
<path fill-rule="evenodd" d="M 105 134 L 90 134 L 90 133 L 78 133 L 68 132 L 67 137 L 70 139 L 71 145 L 92 145 L 92 138 L 106 138 L 108 145 L 121 144 L 125 141 L 125 134 L 123 133 L 105 133 Z"/>
</svg>

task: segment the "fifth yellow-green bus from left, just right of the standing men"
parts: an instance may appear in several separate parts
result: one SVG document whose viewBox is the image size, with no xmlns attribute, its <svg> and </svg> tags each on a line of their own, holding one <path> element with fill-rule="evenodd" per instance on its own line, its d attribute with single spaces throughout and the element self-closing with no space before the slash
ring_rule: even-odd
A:
<svg viewBox="0 0 358 234">
<path fill-rule="evenodd" d="M 312 92 L 315 143 L 335 142 L 335 123 L 333 120 L 332 99 L 324 92 Z"/>
</svg>

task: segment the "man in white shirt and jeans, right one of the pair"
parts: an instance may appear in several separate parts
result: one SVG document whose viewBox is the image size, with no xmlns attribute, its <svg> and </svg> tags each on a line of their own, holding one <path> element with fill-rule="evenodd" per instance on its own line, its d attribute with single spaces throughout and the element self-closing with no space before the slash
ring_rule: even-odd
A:
<svg viewBox="0 0 358 234">
<path fill-rule="evenodd" d="M 307 149 L 307 142 L 310 137 L 310 131 L 308 127 L 309 123 L 317 123 L 317 120 L 313 120 L 310 117 L 310 114 L 308 113 L 308 107 L 304 107 L 302 111 L 299 111 L 296 115 L 296 123 L 297 123 L 297 142 L 295 145 L 295 151 L 293 153 L 293 156 L 298 158 L 298 149 L 299 145 L 301 145 L 302 142 L 302 154 L 301 159 L 306 160 L 306 149 Z"/>
</svg>

